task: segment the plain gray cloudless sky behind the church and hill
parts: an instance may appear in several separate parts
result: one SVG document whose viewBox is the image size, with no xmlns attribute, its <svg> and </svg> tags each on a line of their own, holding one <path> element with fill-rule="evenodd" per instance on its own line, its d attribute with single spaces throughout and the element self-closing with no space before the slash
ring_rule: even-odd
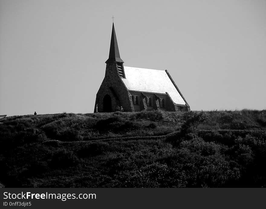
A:
<svg viewBox="0 0 266 209">
<path fill-rule="evenodd" d="M 112 15 L 125 66 L 192 110 L 266 109 L 266 1 L 0 0 L 0 115 L 93 112 Z"/>
</svg>

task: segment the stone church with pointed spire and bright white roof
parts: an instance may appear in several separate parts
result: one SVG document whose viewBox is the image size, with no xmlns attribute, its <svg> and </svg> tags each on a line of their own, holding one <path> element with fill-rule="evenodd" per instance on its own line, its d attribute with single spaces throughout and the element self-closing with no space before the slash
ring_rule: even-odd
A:
<svg viewBox="0 0 266 209">
<path fill-rule="evenodd" d="M 96 94 L 94 112 L 142 110 L 190 111 L 190 106 L 167 70 L 124 66 L 120 58 L 115 26 L 112 26 L 105 76 Z"/>
</svg>

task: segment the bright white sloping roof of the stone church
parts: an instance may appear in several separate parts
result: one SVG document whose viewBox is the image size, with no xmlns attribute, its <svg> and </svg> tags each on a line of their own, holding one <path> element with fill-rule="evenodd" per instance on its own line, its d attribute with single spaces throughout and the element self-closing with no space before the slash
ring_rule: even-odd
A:
<svg viewBox="0 0 266 209">
<path fill-rule="evenodd" d="M 186 104 L 164 70 L 126 66 L 124 66 L 124 70 L 126 78 L 122 78 L 122 81 L 128 90 L 153 93 L 167 92 L 174 103 Z"/>
</svg>

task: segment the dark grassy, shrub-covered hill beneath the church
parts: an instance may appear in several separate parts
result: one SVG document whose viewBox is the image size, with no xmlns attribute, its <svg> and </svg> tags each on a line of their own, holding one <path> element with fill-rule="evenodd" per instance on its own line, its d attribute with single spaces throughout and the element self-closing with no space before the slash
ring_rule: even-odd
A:
<svg viewBox="0 0 266 209">
<path fill-rule="evenodd" d="M 0 182 L 14 187 L 266 186 L 266 110 L 0 119 Z"/>
</svg>

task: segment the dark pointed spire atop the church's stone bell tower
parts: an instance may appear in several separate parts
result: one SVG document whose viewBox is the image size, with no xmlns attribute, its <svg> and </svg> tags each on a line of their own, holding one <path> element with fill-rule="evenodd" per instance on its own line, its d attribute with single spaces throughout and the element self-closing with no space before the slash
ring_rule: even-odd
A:
<svg viewBox="0 0 266 209">
<path fill-rule="evenodd" d="M 110 62 L 122 62 L 122 63 L 124 62 L 120 58 L 118 44 L 117 44 L 116 35 L 115 35 L 114 23 L 113 23 L 113 28 L 112 28 L 112 36 L 111 36 L 111 43 L 110 43 L 109 58 L 108 58 L 108 60 L 106 60 L 105 63 L 110 63 Z"/>
</svg>

